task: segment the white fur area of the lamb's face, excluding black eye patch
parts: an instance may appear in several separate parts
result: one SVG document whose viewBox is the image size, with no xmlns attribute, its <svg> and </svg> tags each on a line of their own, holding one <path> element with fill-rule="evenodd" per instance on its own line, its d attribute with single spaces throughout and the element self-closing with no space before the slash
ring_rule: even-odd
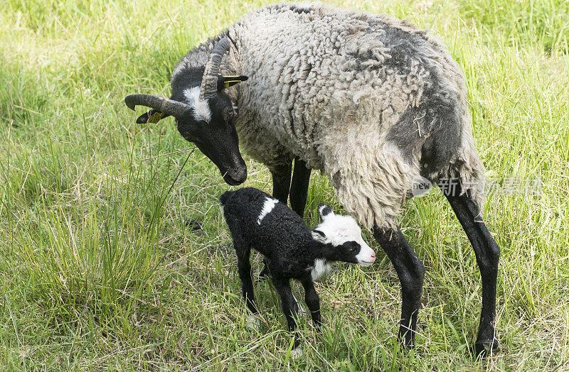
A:
<svg viewBox="0 0 569 372">
<path fill-rule="evenodd" d="M 360 246 L 360 251 L 356 255 L 358 265 L 366 267 L 376 261 L 376 253 L 363 241 L 361 229 L 356 220 L 350 216 L 334 214 L 330 207 L 320 207 L 320 215 L 323 219 L 315 230 L 322 231 L 326 236 L 324 243 L 332 246 L 341 246 L 347 241 L 355 241 Z"/>
</svg>

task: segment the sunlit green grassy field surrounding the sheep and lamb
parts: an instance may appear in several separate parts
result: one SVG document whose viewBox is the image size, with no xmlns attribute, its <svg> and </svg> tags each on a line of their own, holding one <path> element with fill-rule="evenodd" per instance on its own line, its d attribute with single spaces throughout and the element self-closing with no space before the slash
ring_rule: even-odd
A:
<svg viewBox="0 0 569 372">
<path fill-rule="evenodd" d="M 325 326 L 302 319 L 303 358 L 289 357 L 268 283 L 255 288 L 262 332 L 246 327 L 217 207 L 228 185 L 171 119 L 137 125 L 122 99 L 168 95 L 187 50 L 267 1 L 3 4 L 2 370 L 569 370 L 569 1 L 332 1 L 440 35 L 467 77 L 487 175 L 542 182 L 541 195 L 486 201 L 501 246 L 501 350 L 482 361 L 469 352 L 480 275 L 440 192 L 408 201 L 402 217 L 427 268 L 415 351 L 398 349 L 400 285 L 369 234 L 376 264 L 339 265 L 318 283 Z M 270 191 L 267 170 L 246 161 L 245 185 Z M 314 175 L 309 224 L 319 202 L 341 209 Z"/>
</svg>

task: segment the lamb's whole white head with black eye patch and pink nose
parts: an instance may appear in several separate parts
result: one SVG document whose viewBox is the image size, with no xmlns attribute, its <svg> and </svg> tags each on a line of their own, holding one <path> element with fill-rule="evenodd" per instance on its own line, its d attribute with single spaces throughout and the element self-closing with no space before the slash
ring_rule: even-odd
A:
<svg viewBox="0 0 569 372">
<path fill-rule="evenodd" d="M 318 212 L 322 223 L 312 230 L 312 238 L 333 247 L 331 261 L 357 263 L 364 267 L 376 261 L 376 253 L 363 241 L 355 219 L 334 214 L 326 204 L 319 204 Z"/>
</svg>

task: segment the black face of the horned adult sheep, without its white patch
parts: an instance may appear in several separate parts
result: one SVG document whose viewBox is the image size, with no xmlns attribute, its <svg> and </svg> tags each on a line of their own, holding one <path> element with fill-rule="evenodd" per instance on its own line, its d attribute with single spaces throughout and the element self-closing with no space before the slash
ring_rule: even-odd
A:
<svg viewBox="0 0 569 372">
<path fill-rule="evenodd" d="M 191 109 L 184 117 L 176 118 L 178 131 L 218 166 L 225 182 L 240 185 L 247 179 L 247 165 L 239 152 L 236 113 L 231 100 L 227 94 L 218 92 L 217 97 L 208 99 L 208 106 L 209 122 Z"/>
</svg>

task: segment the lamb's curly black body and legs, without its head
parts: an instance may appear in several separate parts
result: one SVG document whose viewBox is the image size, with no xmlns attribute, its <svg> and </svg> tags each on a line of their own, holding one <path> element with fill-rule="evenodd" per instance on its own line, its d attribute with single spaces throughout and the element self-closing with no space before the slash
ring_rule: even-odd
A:
<svg viewBox="0 0 569 372">
<path fill-rule="evenodd" d="M 237 254 L 243 297 L 249 310 L 257 314 L 249 261 L 250 248 L 253 246 L 267 258 L 265 262 L 272 274 L 272 283 L 281 297 L 289 331 L 294 332 L 296 329 L 294 315 L 298 311 L 289 284 L 291 278 L 302 283 L 312 321 L 318 327 L 321 324 L 320 300 L 314 289 L 310 269 L 316 258 L 322 258 L 323 244 L 314 241 L 302 218 L 281 202 L 275 205 L 272 213 L 263 218 L 261 224 L 257 224 L 257 217 L 267 197 L 270 196 L 265 192 L 249 188 L 225 192 L 220 197 Z M 275 225 L 280 226 L 280 229 L 275 229 Z M 275 247 L 275 242 L 279 242 L 278 248 Z M 295 340 L 294 346 L 298 344 L 299 341 Z"/>
</svg>

